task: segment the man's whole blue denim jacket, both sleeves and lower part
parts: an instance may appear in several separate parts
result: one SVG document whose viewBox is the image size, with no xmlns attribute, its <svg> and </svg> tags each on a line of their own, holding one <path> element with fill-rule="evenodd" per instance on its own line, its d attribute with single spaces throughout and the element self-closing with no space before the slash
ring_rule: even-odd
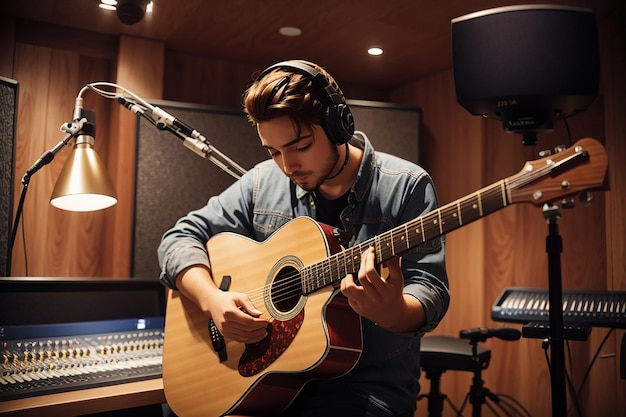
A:
<svg viewBox="0 0 626 417">
<path fill-rule="evenodd" d="M 351 144 L 364 150 L 358 178 L 341 213 L 352 243 L 360 243 L 438 207 L 428 173 L 418 165 L 375 152 L 369 139 L 356 132 Z M 229 231 L 264 241 L 299 216 L 316 217 L 316 199 L 295 185 L 271 160 L 190 212 L 167 231 L 159 246 L 161 281 L 175 289 L 175 277 L 195 265 L 210 266 L 205 244 Z M 332 384 L 345 383 L 395 412 L 413 410 L 419 391 L 420 336 L 434 329 L 449 305 L 444 238 L 436 238 L 402 256 L 404 293 L 417 298 L 426 325 L 414 333 L 396 334 L 362 318 L 363 350 L 357 365 Z M 319 384 L 319 382 L 317 382 Z"/>
</svg>

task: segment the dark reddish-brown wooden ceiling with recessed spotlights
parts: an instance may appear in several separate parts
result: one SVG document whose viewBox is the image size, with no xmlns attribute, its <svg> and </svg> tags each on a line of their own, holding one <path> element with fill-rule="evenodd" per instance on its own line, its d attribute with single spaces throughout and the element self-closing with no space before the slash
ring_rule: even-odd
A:
<svg viewBox="0 0 626 417">
<path fill-rule="evenodd" d="M 598 19 L 622 0 L 552 0 L 594 9 Z M 318 62 L 337 79 L 391 88 L 449 68 L 450 20 L 523 1 L 503 0 L 154 0 L 154 12 L 122 24 L 99 0 L 4 0 L 9 15 L 103 34 L 165 42 L 168 49 L 260 68 L 287 58 Z M 532 3 L 532 2 L 530 2 Z M 281 26 L 297 26 L 288 38 Z M 367 55 L 371 46 L 385 50 Z M 514 47 L 514 45 L 512 45 Z"/>
</svg>

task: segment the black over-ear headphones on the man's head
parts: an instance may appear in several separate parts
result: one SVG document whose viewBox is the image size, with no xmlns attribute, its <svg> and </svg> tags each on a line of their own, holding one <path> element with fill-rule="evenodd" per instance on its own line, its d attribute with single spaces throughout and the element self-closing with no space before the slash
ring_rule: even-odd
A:
<svg viewBox="0 0 626 417">
<path fill-rule="evenodd" d="M 308 64 L 297 61 L 282 61 L 263 70 L 261 75 L 257 77 L 257 81 L 277 68 L 303 74 L 309 77 L 323 91 L 322 128 L 333 143 L 341 145 L 352 138 L 352 134 L 354 134 L 354 118 L 350 107 L 342 100 L 337 90 L 330 84 L 324 74 Z"/>
</svg>

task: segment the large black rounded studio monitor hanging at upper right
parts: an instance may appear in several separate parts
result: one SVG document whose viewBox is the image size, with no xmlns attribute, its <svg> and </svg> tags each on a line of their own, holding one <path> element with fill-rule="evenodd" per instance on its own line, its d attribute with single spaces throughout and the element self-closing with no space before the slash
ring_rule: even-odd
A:
<svg viewBox="0 0 626 417">
<path fill-rule="evenodd" d="M 599 48 L 592 10 L 518 5 L 451 22 L 457 101 L 507 132 L 549 132 L 598 95 Z"/>
</svg>

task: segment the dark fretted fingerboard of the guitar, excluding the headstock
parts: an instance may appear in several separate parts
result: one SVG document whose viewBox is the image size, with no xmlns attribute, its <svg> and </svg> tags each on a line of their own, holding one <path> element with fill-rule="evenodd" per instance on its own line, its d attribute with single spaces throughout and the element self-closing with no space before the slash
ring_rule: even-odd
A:
<svg viewBox="0 0 626 417">
<path fill-rule="evenodd" d="M 375 248 L 376 263 L 381 264 L 506 207 L 510 201 L 506 181 L 500 180 L 304 268 L 301 271 L 303 294 L 313 293 L 356 273 L 361 264 L 361 253 L 370 246 Z"/>
</svg>

